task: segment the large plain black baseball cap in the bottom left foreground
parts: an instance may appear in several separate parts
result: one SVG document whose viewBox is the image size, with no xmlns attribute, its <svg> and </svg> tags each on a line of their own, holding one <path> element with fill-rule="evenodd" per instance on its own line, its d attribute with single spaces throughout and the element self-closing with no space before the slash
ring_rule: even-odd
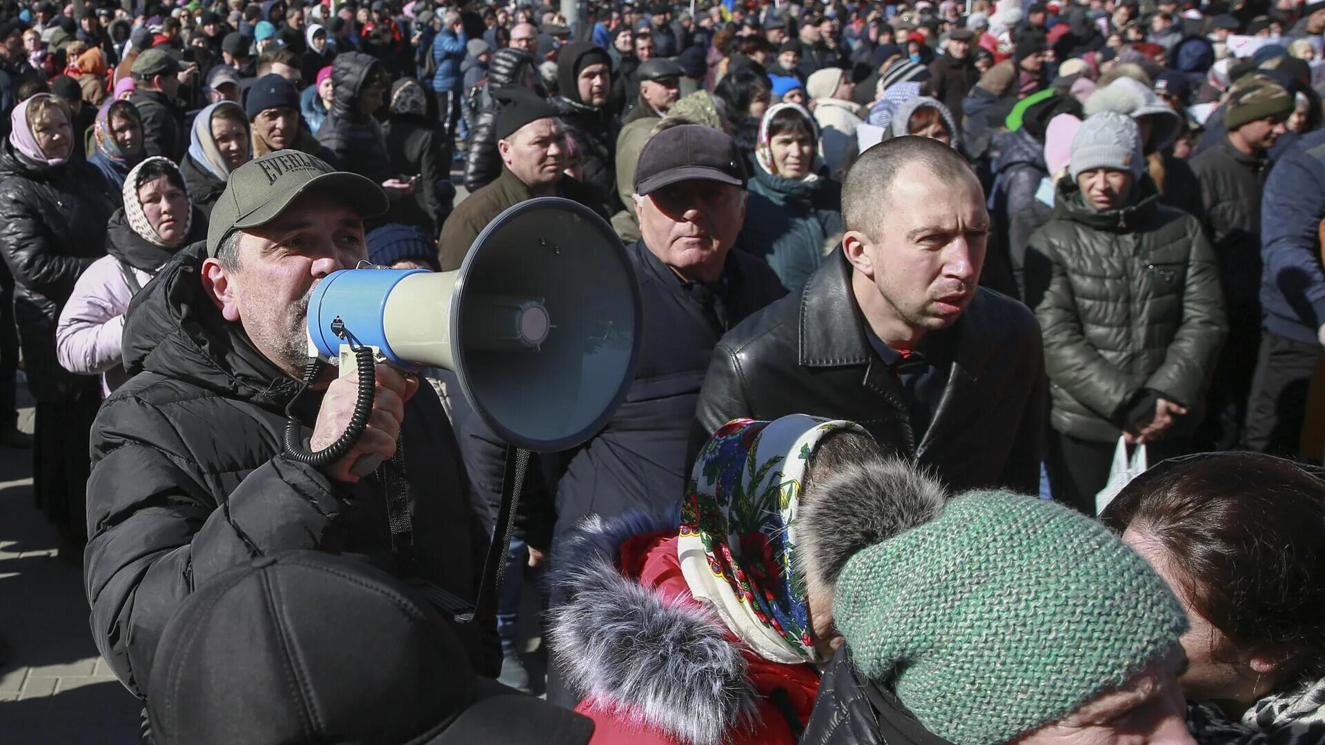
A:
<svg viewBox="0 0 1325 745">
<path fill-rule="evenodd" d="M 583 745 L 594 732 L 480 677 L 457 630 L 401 581 L 321 551 L 245 562 L 186 598 L 156 647 L 147 715 L 160 745 Z"/>
</svg>

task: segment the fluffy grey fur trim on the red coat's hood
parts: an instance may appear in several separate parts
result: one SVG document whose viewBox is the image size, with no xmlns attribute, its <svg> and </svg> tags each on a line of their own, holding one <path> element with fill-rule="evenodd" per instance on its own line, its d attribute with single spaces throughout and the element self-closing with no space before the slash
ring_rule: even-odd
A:
<svg viewBox="0 0 1325 745">
<path fill-rule="evenodd" d="M 643 513 L 592 517 L 558 546 L 562 602 L 549 614 L 549 648 L 566 683 L 600 711 L 719 745 L 757 721 L 739 647 L 716 616 L 668 603 L 616 567 L 620 542 L 657 524 Z"/>
</svg>

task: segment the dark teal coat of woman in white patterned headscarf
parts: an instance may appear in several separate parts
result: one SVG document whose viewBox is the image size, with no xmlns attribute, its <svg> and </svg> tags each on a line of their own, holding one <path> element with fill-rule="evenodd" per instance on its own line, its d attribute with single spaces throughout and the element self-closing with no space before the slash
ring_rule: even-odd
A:
<svg viewBox="0 0 1325 745">
<path fill-rule="evenodd" d="M 782 286 L 799 293 L 841 233 L 841 184 L 775 176 L 755 164 L 737 245 L 767 261 Z"/>
</svg>

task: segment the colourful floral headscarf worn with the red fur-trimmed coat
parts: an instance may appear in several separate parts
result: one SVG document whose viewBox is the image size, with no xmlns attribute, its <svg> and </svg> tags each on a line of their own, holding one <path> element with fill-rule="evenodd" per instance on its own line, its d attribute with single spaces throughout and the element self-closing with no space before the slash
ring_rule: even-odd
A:
<svg viewBox="0 0 1325 745">
<path fill-rule="evenodd" d="M 804 579 L 796 562 L 796 513 L 810 455 L 851 422 L 794 414 L 774 422 L 737 419 L 700 451 L 677 553 L 690 594 L 761 658 L 820 661 L 810 635 Z"/>
</svg>

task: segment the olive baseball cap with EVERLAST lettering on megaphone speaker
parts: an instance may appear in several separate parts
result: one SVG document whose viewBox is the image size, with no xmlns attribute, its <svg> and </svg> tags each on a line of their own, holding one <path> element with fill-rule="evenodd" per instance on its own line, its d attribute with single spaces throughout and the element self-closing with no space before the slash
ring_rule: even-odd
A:
<svg viewBox="0 0 1325 745">
<path fill-rule="evenodd" d="M 231 172 L 225 191 L 212 208 L 207 255 L 216 256 L 221 243 L 235 231 L 270 223 L 311 190 L 334 194 L 338 201 L 354 207 L 363 217 L 376 217 L 390 207 L 382 187 L 359 174 L 337 171 L 325 160 L 297 150 L 270 152 Z"/>
</svg>

